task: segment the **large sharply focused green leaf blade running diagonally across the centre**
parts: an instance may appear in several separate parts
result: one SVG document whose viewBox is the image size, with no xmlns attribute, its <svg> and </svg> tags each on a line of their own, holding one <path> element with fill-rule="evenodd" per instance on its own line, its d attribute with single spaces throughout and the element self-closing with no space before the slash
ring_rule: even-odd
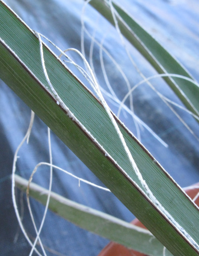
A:
<svg viewBox="0 0 199 256">
<path fill-rule="evenodd" d="M 50 80 L 79 122 L 72 120 L 67 112 L 57 105 L 57 100 L 50 93 L 42 70 L 37 37 L 2 1 L 0 1 L 0 17 L 1 79 L 38 114 L 173 255 L 199 255 L 198 246 L 190 242 L 143 192 L 113 124 L 99 101 L 48 48 L 44 47 L 45 65 Z M 151 192 L 175 221 L 199 243 L 198 208 L 156 163 L 142 144 L 119 120 L 117 123 Z M 86 133 L 80 124 L 83 124 L 89 133 Z M 92 140 L 93 137 L 95 140 Z M 106 152 L 111 158 L 106 156 Z"/>
</svg>

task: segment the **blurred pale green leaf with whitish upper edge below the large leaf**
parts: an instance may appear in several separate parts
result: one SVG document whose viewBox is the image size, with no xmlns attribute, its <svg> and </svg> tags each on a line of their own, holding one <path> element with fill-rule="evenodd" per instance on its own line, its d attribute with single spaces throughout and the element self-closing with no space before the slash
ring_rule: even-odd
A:
<svg viewBox="0 0 199 256">
<path fill-rule="evenodd" d="M 19 189 L 26 192 L 28 180 L 15 175 L 15 184 Z M 31 183 L 29 195 L 45 205 L 48 190 L 35 183 Z M 51 192 L 49 209 L 73 224 L 99 236 L 123 244 L 128 248 L 133 248 L 138 252 L 150 256 L 159 256 L 163 252 L 163 245 L 146 229 L 137 227 L 93 208 L 75 203 L 57 193 Z M 171 256 L 169 252 L 167 255 Z"/>
</svg>

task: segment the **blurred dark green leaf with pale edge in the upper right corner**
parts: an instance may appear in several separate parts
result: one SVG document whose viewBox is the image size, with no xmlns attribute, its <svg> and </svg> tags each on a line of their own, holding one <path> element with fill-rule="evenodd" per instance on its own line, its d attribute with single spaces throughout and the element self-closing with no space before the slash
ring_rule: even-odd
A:
<svg viewBox="0 0 199 256">
<path fill-rule="evenodd" d="M 106 0 L 92 0 L 89 3 L 114 25 L 111 9 Z M 128 15 L 114 1 L 113 6 L 120 16 L 117 20 L 121 33 L 141 52 L 159 74 L 176 74 L 193 79 L 185 67 L 146 32 L 132 16 Z M 199 115 L 199 87 L 181 78 L 164 77 L 164 80 L 185 104 L 186 108 Z"/>
</svg>

